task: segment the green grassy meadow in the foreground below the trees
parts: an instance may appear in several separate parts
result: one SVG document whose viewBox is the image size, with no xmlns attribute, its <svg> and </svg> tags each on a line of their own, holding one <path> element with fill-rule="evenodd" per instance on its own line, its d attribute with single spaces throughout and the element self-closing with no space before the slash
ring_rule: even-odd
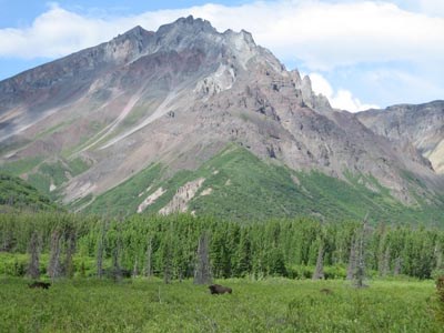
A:
<svg viewBox="0 0 444 333">
<path fill-rule="evenodd" d="M 27 282 L 0 280 L 0 332 L 443 332 L 432 281 L 228 280 L 219 296 L 190 281 Z"/>
</svg>

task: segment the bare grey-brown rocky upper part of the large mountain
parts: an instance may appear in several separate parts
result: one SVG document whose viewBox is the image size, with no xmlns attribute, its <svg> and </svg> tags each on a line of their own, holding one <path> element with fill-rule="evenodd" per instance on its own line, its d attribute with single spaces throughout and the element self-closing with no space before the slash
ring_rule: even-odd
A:
<svg viewBox="0 0 444 333">
<path fill-rule="evenodd" d="M 310 78 L 286 71 L 249 32 L 220 33 L 192 17 L 157 32 L 137 27 L 0 82 L 0 163 L 91 162 L 62 184 L 65 202 L 153 162 L 171 173 L 195 169 L 230 142 L 294 170 L 372 174 L 404 203 L 415 202 L 404 171 L 432 193 L 442 189 L 414 148 L 401 150 L 356 115 L 332 110 Z"/>
</svg>

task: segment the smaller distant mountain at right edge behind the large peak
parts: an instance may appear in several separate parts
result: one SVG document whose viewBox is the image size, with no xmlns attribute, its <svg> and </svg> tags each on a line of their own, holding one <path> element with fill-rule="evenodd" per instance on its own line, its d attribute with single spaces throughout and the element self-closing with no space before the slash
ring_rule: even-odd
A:
<svg viewBox="0 0 444 333">
<path fill-rule="evenodd" d="M 413 145 L 444 174 L 444 101 L 420 105 L 401 104 L 357 114 L 375 133 L 401 145 Z"/>
</svg>

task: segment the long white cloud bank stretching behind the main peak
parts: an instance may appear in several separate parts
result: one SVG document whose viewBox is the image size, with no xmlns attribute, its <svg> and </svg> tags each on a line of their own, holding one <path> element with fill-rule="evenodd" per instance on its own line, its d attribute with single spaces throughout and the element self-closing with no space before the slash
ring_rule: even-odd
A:
<svg viewBox="0 0 444 333">
<path fill-rule="evenodd" d="M 422 0 L 422 6 L 440 10 L 442 2 Z M 312 70 L 356 62 L 444 59 L 444 18 L 412 13 L 387 2 L 320 0 L 205 4 L 107 20 L 52 4 L 31 27 L 1 29 L 0 57 L 60 57 L 107 41 L 135 24 L 155 30 L 190 13 L 220 30 L 249 30 L 282 60 L 297 57 Z"/>
</svg>

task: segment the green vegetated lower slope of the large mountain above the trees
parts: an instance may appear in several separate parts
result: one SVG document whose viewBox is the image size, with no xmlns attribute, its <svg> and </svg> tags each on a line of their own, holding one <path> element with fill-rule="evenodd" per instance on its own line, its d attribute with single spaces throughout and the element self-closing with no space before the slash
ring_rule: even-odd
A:
<svg viewBox="0 0 444 333">
<path fill-rule="evenodd" d="M 189 211 L 243 221 L 302 215 L 340 221 L 362 219 L 369 212 L 372 221 L 444 222 L 443 200 L 405 206 L 370 175 L 349 174 L 347 180 L 339 180 L 315 171 L 295 172 L 266 163 L 234 144 L 195 171 L 181 171 L 172 178 L 165 176 L 167 171 L 164 165 L 151 165 L 93 199 L 84 210 L 131 214 L 148 199 L 149 204 L 140 209 L 143 213 L 158 213 L 175 201 L 176 206 L 170 206 L 169 212 Z M 182 199 L 174 199 L 178 195 Z M 85 202 L 78 202 L 77 206 Z"/>
</svg>

